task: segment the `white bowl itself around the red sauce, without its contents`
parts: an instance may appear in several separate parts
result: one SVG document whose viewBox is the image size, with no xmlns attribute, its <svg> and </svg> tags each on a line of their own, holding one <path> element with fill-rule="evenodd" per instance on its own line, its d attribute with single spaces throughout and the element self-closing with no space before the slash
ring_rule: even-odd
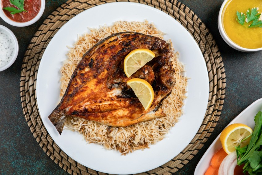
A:
<svg viewBox="0 0 262 175">
<path fill-rule="evenodd" d="M 30 21 L 27 22 L 23 22 L 23 23 L 19 23 L 19 22 L 15 22 L 12 19 L 9 19 L 3 9 L 2 9 L 2 1 L 0 1 L 0 17 L 6 22 L 9 23 L 12 26 L 16 26 L 16 27 L 25 27 L 25 26 L 29 26 L 33 23 L 35 23 L 38 19 L 40 19 L 40 17 L 43 15 L 43 12 L 45 10 L 45 6 L 46 6 L 46 1 L 45 0 L 41 0 L 41 7 L 40 10 L 38 12 L 38 14 L 35 16 L 35 18 L 31 19 Z"/>
</svg>

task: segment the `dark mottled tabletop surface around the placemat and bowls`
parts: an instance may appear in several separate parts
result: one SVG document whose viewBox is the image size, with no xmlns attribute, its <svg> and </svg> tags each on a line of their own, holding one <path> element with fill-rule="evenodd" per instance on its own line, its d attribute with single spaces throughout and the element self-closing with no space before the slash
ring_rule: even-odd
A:
<svg viewBox="0 0 262 175">
<path fill-rule="evenodd" d="M 44 19 L 65 0 L 47 0 L 43 16 L 33 25 L 14 27 L 2 19 L 0 24 L 14 32 L 19 53 L 14 64 L 0 72 L 0 174 L 67 174 L 41 149 L 22 113 L 19 81 L 23 56 L 34 33 Z M 262 52 L 243 53 L 229 47 L 219 34 L 217 18 L 223 0 L 181 0 L 211 31 L 226 70 L 226 97 L 214 132 L 196 156 L 175 174 L 193 174 L 199 160 L 229 122 L 255 100 L 262 98 Z"/>
</svg>

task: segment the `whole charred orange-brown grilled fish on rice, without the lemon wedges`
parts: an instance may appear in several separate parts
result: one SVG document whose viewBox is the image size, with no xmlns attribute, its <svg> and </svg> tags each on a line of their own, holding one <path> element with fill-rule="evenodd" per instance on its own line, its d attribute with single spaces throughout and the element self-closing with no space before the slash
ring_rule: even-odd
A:
<svg viewBox="0 0 262 175">
<path fill-rule="evenodd" d="M 127 78 L 123 60 L 140 48 L 152 50 L 156 58 Z M 175 84 L 171 58 L 170 44 L 158 37 L 137 32 L 112 34 L 84 54 L 62 100 L 48 118 L 61 134 L 68 116 L 116 127 L 163 117 L 159 103 Z M 125 83 L 131 78 L 145 79 L 154 88 L 154 101 L 146 111 Z"/>
</svg>

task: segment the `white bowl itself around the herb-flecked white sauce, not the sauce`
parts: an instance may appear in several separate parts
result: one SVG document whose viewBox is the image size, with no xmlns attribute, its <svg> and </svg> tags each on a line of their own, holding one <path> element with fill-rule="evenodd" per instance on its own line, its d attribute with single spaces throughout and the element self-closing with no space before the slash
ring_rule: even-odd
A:
<svg viewBox="0 0 262 175">
<path fill-rule="evenodd" d="M 16 60 L 16 57 L 18 55 L 18 41 L 16 39 L 16 37 L 14 36 L 14 33 L 12 31 L 10 31 L 8 28 L 6 28 L 5 26 L 0 25 L 0 31 L 4 32 L 6 35 L 8 35 L 10 37 L 10 39 L 13 41 L 14 44 L 14 53 L 13 53 L 13 57 L 11 58 L 11 60 L 4 66 L 0 67 L 0 72 L 3 70 L 6 70 L 8 67 L 10 67 L 14 61 Z"/>
</svg>

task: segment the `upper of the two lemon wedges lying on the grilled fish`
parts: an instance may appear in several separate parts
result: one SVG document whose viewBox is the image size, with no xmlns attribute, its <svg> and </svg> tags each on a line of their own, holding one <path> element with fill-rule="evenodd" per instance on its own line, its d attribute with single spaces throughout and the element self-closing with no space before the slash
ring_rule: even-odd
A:
<svg viewBox="0 0 262 175">
<path fill-rule="evenodd" d="M 124 60 L 125 75 L 130 77 L 154 57 L 154 52 L 148 49 L 135 49 L 131 51 Z"/>
</svg>

